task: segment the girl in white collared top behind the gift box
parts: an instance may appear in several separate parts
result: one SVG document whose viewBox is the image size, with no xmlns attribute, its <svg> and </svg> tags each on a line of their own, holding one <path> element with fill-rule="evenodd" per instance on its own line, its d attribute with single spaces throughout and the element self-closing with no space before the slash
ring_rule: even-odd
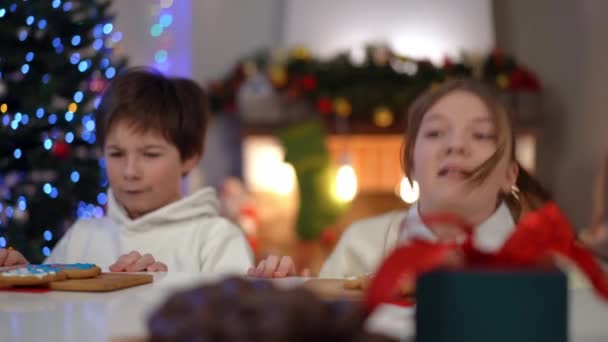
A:
<svg viewBox="0 0 608 342">
<path fill-rule="evenodd" d="M 406 212 L 354 223 L 323 265 L 320 277 L 343 278 L 373 272 L 398 244 L 412 238 L 458 240 L 453 230 L 431 229 L 420 215 L 451 212 L 475 225 L 477 248 L 500 249 L 527 210 L 548 194 L 515 159 L 509 115 L 495 94 L 472 79 L 452 80 L 423 93 L 410 107 L 405 173 L 420 186 L 420 199 Z M 418 222 L 401 231 L 402 222 Z M 249 275 L 295 275 L 290 257 L 270 256 Z"/>
</svg>

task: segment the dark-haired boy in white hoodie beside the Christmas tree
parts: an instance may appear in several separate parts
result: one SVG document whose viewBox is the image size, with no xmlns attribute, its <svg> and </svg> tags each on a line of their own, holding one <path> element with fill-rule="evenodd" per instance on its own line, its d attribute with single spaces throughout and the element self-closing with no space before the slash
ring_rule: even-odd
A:
<svg viewBox="0 0 608 342">
<path fill-rule="evenodd" d="M 240 229 L 218 216 L 215 191 L 180 191 L 202 157 L 206 128 L 206 97 L 193 81 L 145 68 L 118 76 L 96 113 L 107 216 L 78 220 L 45 262 L 243 274 L 251 250 Z"/>
</svg>

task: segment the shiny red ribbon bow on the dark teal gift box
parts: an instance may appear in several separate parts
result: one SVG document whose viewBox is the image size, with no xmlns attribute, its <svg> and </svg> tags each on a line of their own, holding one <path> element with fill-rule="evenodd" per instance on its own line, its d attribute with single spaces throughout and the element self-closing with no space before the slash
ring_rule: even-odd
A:
<svg viewBox="0 0 608 342">
<path fill-rule="evenodd" d="M 431 243 L 412 240 L 396 248 L 382 263 L 372 279 L 365 298 L 371 312 L 381 303 L 411 305 L 399 299 L 399 284 L 403 277 L 417 278 L 423 273 L 445 267 L 529 267 L 565 257 L 574 262 L 588 277 L 591 285 L 608 301 L 608 276 L 593 255 L 576 241 L 574 230 L 565 215 L 553 202 L 526 214 L 503 247 L 496 253 L 484 253 L 473 246 L 473 226 L 453 214 L 428 215 L 422 221 L 431 226 L 447 224 L 465 233 L 463 244 Z"/>
</svg>

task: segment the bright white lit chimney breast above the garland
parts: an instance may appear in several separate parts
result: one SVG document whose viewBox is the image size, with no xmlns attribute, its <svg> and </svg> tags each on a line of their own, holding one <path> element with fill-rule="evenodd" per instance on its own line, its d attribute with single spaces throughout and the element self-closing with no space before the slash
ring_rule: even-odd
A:
<svg viewBox="0 0 608 342">
<path fill-rule="evenodd" d="M 494 47 L 490 0 L 286 1 L 283 43 L 321 55 L 386 42 L 401 54 L 440 62 Z"/>
</svg>

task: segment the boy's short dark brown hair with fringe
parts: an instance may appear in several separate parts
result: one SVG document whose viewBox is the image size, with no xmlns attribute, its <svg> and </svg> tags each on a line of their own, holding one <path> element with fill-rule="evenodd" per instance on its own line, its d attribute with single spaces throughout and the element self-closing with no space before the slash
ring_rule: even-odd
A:
<svg viewBox="0 0 608 342">
<path fill-rule="evenodd" d="M 158 132 L 182 160 L 202 157 L 208 123 L 207 96 L 194 81 L 169 78 L 145 67 L 127 69 L 105 90 L 95 114 L 97 141 L 118 122 L 141 133 Z"/>
</svg>

